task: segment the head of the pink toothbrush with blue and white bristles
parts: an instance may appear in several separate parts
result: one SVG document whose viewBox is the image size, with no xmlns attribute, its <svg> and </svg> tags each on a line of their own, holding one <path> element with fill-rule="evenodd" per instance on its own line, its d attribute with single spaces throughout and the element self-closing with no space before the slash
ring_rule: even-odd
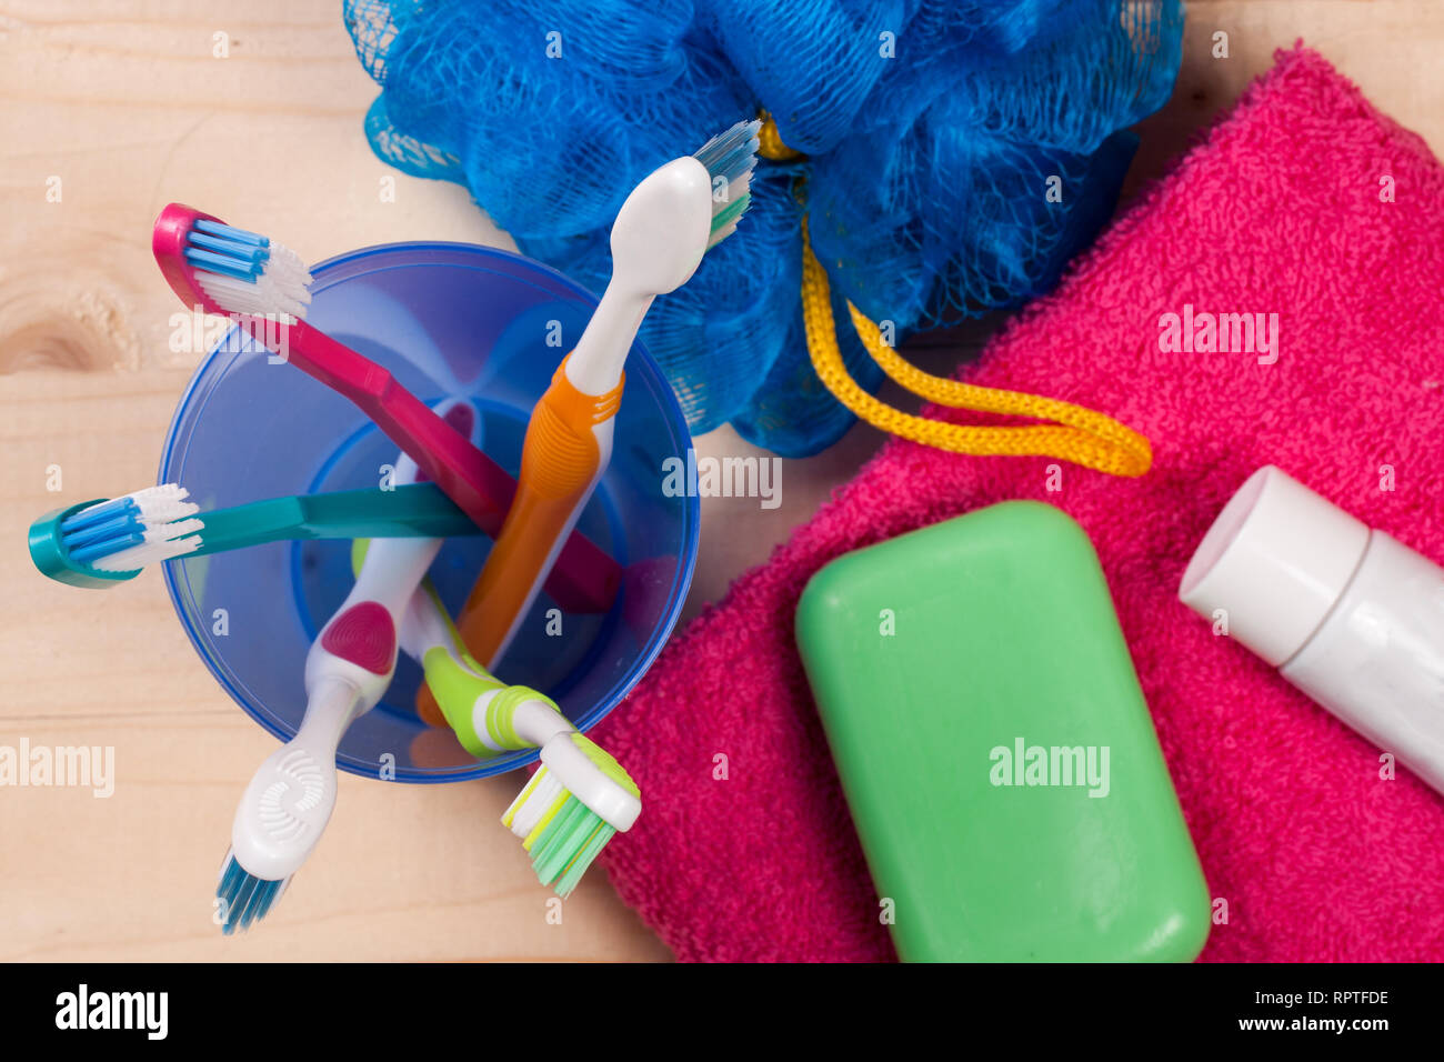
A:
<svg viewBox="0 0 1444 1062">
<path fill-rule="evenodd" d="M 310 273 L 300 257 L 258 233 L 172 202 L 156 218 L 150 249 L 186 306 L 293 324 L 310 305 Z"/>
</svg>

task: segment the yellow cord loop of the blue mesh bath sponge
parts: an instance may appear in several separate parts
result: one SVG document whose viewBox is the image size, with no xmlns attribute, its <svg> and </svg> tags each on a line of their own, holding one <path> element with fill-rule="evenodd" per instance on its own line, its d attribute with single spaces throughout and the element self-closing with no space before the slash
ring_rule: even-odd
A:
<svg viewBox="0 0 1444 1062">
<path fill-rule="evenodd" d="M 813 254 L 803 220 L 803 322 L 807 353 L 819 379 L 843 406 L 874 428 L 954 454 L 1056 457 L 1112 475 L 1142 475 L 1154 461 L 1148 439 L 1110 416 L 1071 402 L 1038 394 L 979 387 L 931 376 L 908 364 L 882 341 L 878 327 L 848 303 L 852 327 L 872 360 L 895 383 L 940 406 L 980 413 L 1011 413 L 1051 420 L 1048 425 L 966 426 L 914 416 L 868 394 L 848 374 L 838 350 L 827 273 Z"/>
</svg>

